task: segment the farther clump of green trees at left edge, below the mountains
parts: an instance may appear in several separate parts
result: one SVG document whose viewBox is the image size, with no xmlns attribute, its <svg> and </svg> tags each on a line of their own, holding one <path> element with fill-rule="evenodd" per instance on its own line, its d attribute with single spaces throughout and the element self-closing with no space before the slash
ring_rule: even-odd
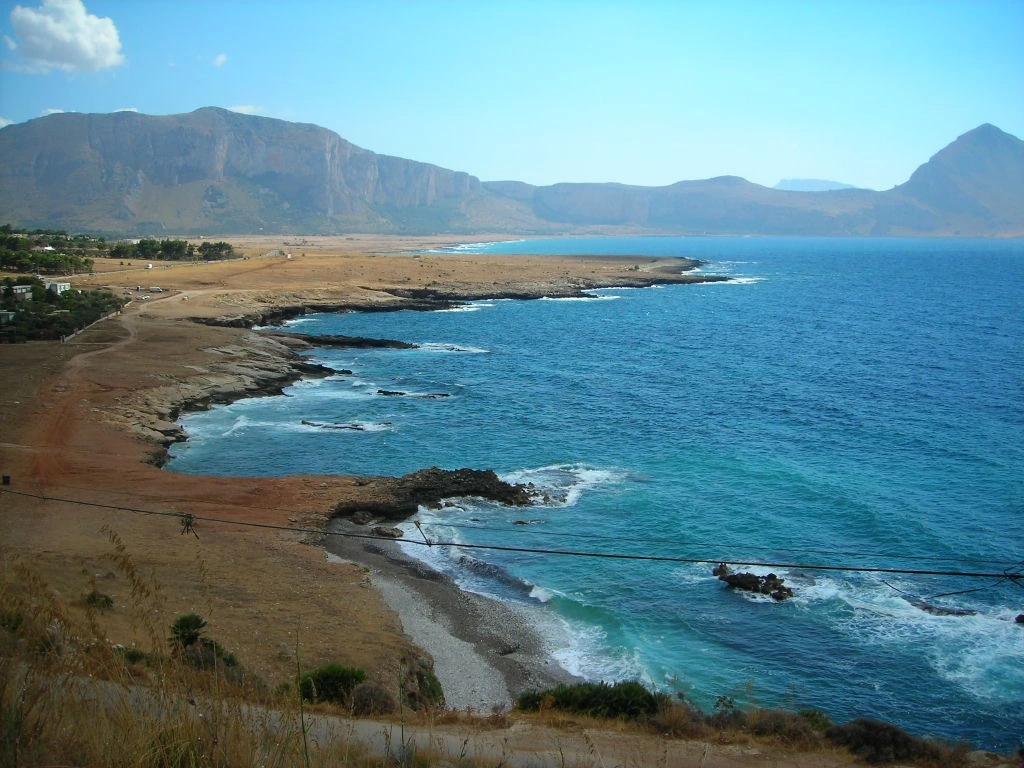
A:
<svg viewBox="0 0 1024 768">
<path fill-rule="evenodd" d="M 92 255 L 102 255 L 106 243 L 88 234 L 69 236 L 52 229 L 17 231 L 0 226 L 0 269 L 34 274 L 91 272 Z"/>
</svg>

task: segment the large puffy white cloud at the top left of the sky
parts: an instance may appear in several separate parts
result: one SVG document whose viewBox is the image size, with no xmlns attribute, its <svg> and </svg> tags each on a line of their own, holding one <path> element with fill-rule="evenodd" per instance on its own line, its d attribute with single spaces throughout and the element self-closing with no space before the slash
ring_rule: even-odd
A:
<svg viewBox="0 0 1024 768">
<path fill-rule="evenodd" d="M 82 0 L 43 0 L 38 8 L 15 5 L 10 23 L 16 50 L 42 72 L 99 72 L 125 60 L 114 22 L 86 13 Z"/>
</svg>

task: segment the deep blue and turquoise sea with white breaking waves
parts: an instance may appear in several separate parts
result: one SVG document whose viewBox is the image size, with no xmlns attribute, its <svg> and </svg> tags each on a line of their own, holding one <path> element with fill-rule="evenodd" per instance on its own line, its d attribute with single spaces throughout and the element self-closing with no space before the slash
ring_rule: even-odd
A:
<svg viewBox="0 0 1024 768">
<path fill-rule="evenodd" d="M 569 671 L 706 708 L 732 695 L 1024 742 L 1024 581 L 806 567 L 1024 571 L 1024 242 L 455 250 L 685 256 L 735 280 L 307 315 L 290 327 L 420 348 L 317 350 L 352 374 L 186 416 L 169 469 L 493 468 L 551 501 L 423 510 L 432 540 L 676 558 L 407 545 L 466 589 L 524 605 Z M 273 447 L 257 463 L 254 444 Z M 688 560 L 781 563 L 742 569 L 774 571 L 796 596 L 733 592 Z"/>
</svg>

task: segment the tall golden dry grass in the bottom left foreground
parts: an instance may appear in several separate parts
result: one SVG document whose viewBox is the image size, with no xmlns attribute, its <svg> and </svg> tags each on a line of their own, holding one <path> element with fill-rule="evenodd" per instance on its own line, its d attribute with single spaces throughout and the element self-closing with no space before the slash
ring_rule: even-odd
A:
<svg viewBox="0 0 1024 768">
<path fill-rule="evenodd" d="M 415 755 L 399 730 L 380 726 L 385 749 L 346 734 L 337 708 L 303 706 L 294 687 L 270 692 L 227 668 L 198 670 L 168 652 L 153 626 L 160 590 L 117 537 L 111 559 L 132 585 L 141 646 L 105 641 L 87 618 L 17 559 L 0 582 L 0 766 L 428 766 L 451 756 Z M 301 672 L 296 664 L 297 675 Z M 429 715 L 416 720 L 427 722 Z M 458 718 L 465 725 L 472 719 Z M 410 719 L 410 724 L 413 724 Z M 484 722 L 486 722 L 484 720 Z M 464 759 L 458 765 L 479 765 Z M 456 763 L 452 763 L 455 765 Z"/>
</svg>

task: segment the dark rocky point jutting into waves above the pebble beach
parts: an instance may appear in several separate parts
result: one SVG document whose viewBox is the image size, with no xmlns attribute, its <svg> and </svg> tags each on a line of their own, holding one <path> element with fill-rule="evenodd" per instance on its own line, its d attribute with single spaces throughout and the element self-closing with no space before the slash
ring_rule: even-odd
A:
<svg viewBox="0 0 1024 768">
<path fill-rule="evenodd" d="M 335 517 L 355 522 L 403 520 L 416 514 L 420 505 L 461 497 L 479 497 L 514 507 L 534 503 L 526 485 L 505 482 L 490 469 L 431 467 L 401 477 L 368 478 L 366 482 L 373 483 L 372 498 L 341 502 L 334 509 Z"/>
</svg>

